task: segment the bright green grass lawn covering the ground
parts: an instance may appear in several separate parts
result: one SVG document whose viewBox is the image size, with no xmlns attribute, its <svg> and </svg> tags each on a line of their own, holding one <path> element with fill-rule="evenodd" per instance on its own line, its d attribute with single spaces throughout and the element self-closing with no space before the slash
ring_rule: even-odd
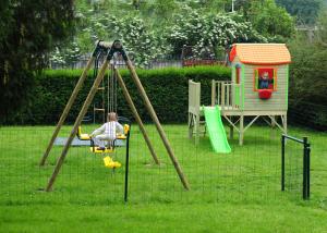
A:
<svg viewBox="0 0 327 233">
<path fill-rule="evenodd" d="M 83 130 L 90 132 L 95 125 Z M 73 147 L 51 193 L 43 188 L 62 147 L 39 168 L 53 126 L 0 127 L 0 232 L 327 232 L 326 133 L 290 128 L 312 143 L 312 195 L 301 199 L 302 147 L 287 145 L 287 191 L 280 192 L 280 133 L 264 126 L 245 133 L 244 146 L 211 151 L 195 146 L 186 125 L 165 125 L 191 191 L 182 187 L 153 125 L 146 126 L 161 165 L 153 163 L 132 126 L 129 203 L 124 167 L 108 170 L 88 147 Z M 64 126 L 60 136 L 66 136 Z M 123 165 L 124 147 L 113 158 Z"/>
</svg>

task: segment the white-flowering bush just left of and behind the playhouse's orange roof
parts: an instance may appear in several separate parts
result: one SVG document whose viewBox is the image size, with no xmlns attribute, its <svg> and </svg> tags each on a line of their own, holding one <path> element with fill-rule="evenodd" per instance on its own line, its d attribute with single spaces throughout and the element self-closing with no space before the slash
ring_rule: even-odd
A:
<svg viewBox="0 0 327 233">
<path fill-rule="evenodd" d="M 187 14 L 180 15 L 167 34 L 167 41 L 172 46 L 171 52 L 181 54 L 183 46 L 192 46 L 193 53 L 201 57 L 208 49 L 217 50 L 233 42 L 265 42 L 249 22 L 240 16 L 199 13 L 187 9 Z M 215 54 L 211 52 L 210 54 Z"/>
</svg>

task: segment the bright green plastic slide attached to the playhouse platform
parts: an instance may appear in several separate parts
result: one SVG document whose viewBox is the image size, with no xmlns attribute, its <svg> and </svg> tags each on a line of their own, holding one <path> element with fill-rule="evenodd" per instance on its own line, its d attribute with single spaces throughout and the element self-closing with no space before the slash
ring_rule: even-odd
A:
<svg viewBox="0 0 327 233">
<path fill-rule="evenodd" d="M 204 107 L 204 114 L 206 119 L 206 126 L 210 137 L 210 142 L 215 152 L 231 152 L 228 144 L 219 108 Z"/>
</svg>

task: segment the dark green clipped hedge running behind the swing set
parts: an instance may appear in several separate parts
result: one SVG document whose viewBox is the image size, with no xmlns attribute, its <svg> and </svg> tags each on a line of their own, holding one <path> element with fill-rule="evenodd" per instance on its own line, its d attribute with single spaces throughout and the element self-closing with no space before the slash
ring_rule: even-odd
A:
<svg viewBox="0 0 327 233">
<path fill-rule="evenodd" d="M 35 76 L 35 87 L 28 97 L 28 105 L 14 115 L 2 119 L 2 124 L 55 124 L 60 118 L 70 98 L 82 70 L 48 70 Z M 230 69 L 223 66 L 169 68 L 158 70 L 137 70 L 140 79 L 162 123 L 179 123 L 187 120 L 187 81 L 202 84 L 202 103 L 210 103 L 211 79 L 230 79 Z M 143 105 L 130 73 L 121 71 L 121 75 L 138 109 L 142 119 L 147 122 L 149 115 Z M 105 78 L 107 82 L 107 78 Z M 80 91 L 66 122 L 74 122 L 78 111 L 94 82 L 89 71 L 86 83 Z M 105 83 L 106 84 L 106 83 Z M 107 101 L 107 94 L 106 101 Z M 118 113 L 132 118 L 120 88 L 117 89 Z M 97 94 L 93 103 L 99 106 L 101 95 Z M 93 106 L 88 113 L 93 115 Z"/>
</svg>

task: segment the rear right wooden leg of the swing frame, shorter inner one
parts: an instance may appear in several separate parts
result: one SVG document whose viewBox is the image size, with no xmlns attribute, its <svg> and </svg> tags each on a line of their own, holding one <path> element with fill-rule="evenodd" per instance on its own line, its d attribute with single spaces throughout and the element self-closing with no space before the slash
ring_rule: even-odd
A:
<svg viewBox="0 0 327 233">
<path fill-rule="evenodd" d="M 148 138 L 148 135 L 147 135 L 147 133 L 145 131 L 145 127 L 143 125 L 141 116 L 140 116 L 136 108 L 135 108 L 135 105 L 134 105 L 134 102 L 133 102 L 133 100 L 132 100 L 132 98 L 130 96 L 130 93 L 129 93 L 129 90 L 126 88 L 126 85 L 124 84 L 124 81 L 123 81 L 122 76 L 120 75 L 119 71 L 117 69 L 114 69 L 114 72 L 116 72 L 116 75 L 118 77 L 118 83 L 119 83 L 119 85 L 120 85 L 120 87 L 121 87 L 121 89 L 123 91 L 123 95 L 124 95 L 124 97 L 125 97 L 125 99 L 126 99 L 126 101 L 128 101 L 128 103 L 130 106 L 130 109 L 131 109 L 131 111 L 132 111 L 132 113 L 133 113 L 133 115 L 134 115 L 134 118 L 135 118 L 135 120 L 136 120 L 136 122 L 138 124 L 138 127 L 140 127 L 140 130 L 141 130 L 141 132 L 143 134 L 143 137 L 144 137 L 145 142 L 146 142 L 146 145 L 147 145 L 147 147 L 148 147 L 148 149 L 149 149 L 149 151 L 150 151 L 150 154 L 152 154 L 152 156 L 153 156 L 156 164 L 159 164 L 160 162 L 158 160 L 158 157 L 157 157 L 157 155 L 155 152 L 155 149 L 154 149 L 154 147 L 153 147 L 153 145 L 152 145 L 149 138 Z"/>
</svg>

